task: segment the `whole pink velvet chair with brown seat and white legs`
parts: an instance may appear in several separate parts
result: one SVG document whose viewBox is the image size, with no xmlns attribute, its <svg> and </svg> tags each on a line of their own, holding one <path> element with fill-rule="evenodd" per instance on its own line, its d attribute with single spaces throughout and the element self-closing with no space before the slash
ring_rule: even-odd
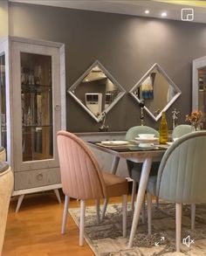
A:
<svg viewBox="0 0 206 256">
<path fill-rule="evenodd" d="M 123 236 L 127 235 L 127 193 L 128 185 L 124 177 L 100 170 L 93 152 L 79 137 L 66 131 L 59 131 L 58 156 L 62 188 L 65 193 L 65 207 L 62 233 L 65 233 L 69 199 L 80 199 L 79 246 L 84 243 L 85 200 L 96 199 L 97 217 L 100 221 L 100 198 L 123 196 Z"/>
</svg>

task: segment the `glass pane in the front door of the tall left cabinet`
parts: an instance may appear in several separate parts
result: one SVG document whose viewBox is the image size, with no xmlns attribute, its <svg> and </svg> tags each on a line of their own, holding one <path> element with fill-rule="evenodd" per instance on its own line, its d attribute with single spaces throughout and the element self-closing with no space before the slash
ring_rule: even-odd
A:
<svg viewBox="0 0 206 256">
<path fill-rule="evenodd" d="M 53 158 L 52 56 L 20 52 L 23 162 Z"/>
</svg>

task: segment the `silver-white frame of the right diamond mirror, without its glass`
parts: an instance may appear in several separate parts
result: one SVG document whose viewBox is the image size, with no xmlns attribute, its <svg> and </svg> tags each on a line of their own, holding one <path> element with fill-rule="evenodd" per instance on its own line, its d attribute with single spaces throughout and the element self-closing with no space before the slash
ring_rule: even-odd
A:
<svg viewBox="0 0 206 256">
<path fill-rule="evenodd" d="M 148 70 L 147 73 L 145 73 L 141 80 L 139 80 L 135 85 L 134 87 L 129 91 L 129 93 L 134 97 L 134 100 L 136 100 L 138 103 L 140 103 L 141 99 L 139 99 L 135 94 L 134 92 L 136 91 L 136 89 L 141 86 L 141 83 L 148 78 L 148 75 L 150 73 L 152 73 L 153 69 L 156 68 L 162 75 L 163 77 L 168 80 L 168 83 L 169 85 L 173 86 L 175 88 L 175 96 L 173 97 L 172 100 L 170 100 L 168 102 L 168 104 L 163 108 L 161 109 L 161 112 L 157 115 L 157 116 L 154 116 L 154 114 L 151 113 L 151 111 L 148 109 L 148 107 L 144 107 L 144 109 L 148 112 L 148 114 L 154 119 L 154 121 L 158 121 L 160 118 L 161 118 L 161 113 L 166 111 L 168 109 L 168 107 L 170 107 L 173 102 L 180 96 L 180 94 L 182 93 L 181 90 L 178 88 L 178 86 L 175 85 L 175 83 L 168 77 L 168 74 L 165 73 L 165 71 L 161 68 L 161 66 L 157 63 L 154 63 L 154 65 Z"/>
</svg>

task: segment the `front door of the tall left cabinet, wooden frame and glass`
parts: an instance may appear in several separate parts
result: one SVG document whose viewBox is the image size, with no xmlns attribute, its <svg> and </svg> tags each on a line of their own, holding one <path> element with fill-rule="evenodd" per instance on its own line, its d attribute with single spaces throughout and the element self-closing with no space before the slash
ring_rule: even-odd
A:
<svg viewBox="0 0 206 256">
<path fill-rule="evenodd" d="M 59 56 L 57 47 L 12 44 L 14 152 L 19 171 L 58 167 Z"/>
</svg>

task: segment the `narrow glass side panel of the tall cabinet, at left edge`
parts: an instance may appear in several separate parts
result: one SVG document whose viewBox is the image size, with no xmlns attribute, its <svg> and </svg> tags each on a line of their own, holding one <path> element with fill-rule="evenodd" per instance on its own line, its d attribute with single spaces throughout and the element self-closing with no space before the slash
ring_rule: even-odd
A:
<svg viewBox="0 0 206 256">
<path fill-rule="evenodd" d="M 5 86 L 5 53 L 0 53 L 0 146 L 6 149 L 6 86 Z"/>
</svg>

